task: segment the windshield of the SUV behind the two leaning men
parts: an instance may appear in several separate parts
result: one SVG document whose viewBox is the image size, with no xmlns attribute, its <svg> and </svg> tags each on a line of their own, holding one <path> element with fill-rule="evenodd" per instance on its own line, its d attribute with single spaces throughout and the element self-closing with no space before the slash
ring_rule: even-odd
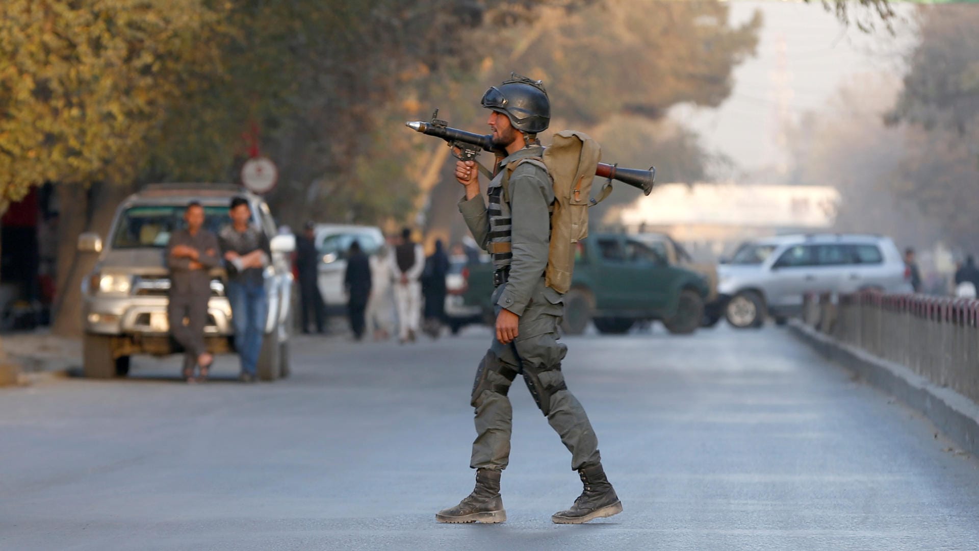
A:
<svg viewBox="0 0 979 551">
<path fill-rule="evenodd" d="M 186 205 L 129 207 L 119 216 L 113 248 L 165 247 L 173 231 L 187 226 L 183 220 L 186 208 Z M 204 226 L 215 234 L 224 225 L 231 224 L 228 208 L 224 206 L 205 207 L 204 216 Z"/>
</svg>

